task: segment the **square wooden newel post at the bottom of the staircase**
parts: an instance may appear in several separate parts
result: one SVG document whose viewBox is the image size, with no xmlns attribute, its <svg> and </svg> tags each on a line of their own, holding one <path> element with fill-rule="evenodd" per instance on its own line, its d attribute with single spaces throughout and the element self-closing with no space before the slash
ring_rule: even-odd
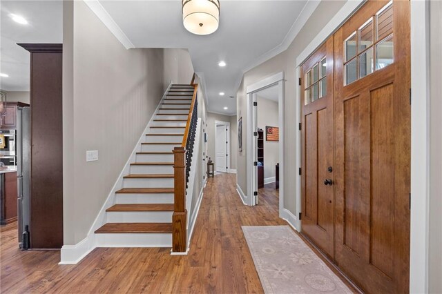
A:
<svg viewBox="0 0 442 294">
<path fill-rule="evenodd" d="M 186 252 L 186 150 L 175 147 L 174 157 L 174 198 L 175 208 L 172 217 L 172 252 Z"/>
</svg>

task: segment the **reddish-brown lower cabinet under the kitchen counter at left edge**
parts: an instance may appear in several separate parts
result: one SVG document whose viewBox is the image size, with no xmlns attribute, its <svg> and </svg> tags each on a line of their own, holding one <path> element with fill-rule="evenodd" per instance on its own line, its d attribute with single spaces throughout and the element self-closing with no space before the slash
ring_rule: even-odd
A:
<svg viewBox="0 0 442 294">
<path fill-rule="evenodd" d="M 17 172 L 1 174 L 0 181 L 0 224 L 4 225 L 17 220 Z"/>
</svg>

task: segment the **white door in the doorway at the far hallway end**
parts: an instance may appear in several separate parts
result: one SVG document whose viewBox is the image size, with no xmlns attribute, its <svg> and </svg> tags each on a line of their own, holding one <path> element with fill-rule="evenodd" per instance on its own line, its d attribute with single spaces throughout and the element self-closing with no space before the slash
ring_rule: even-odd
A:
<svg viewBox="0 0 442 294">
<path fill-rule="evenodd" d="M 215 121 L 215 172 L 229 173 L 230 122 Z"/>
</svg>

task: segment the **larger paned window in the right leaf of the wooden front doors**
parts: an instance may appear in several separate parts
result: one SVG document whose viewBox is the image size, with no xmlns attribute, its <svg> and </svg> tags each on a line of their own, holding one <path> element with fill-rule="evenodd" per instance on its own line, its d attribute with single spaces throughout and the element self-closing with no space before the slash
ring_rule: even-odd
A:
<svg viewBox="0 0 442 294">
<path fill-rule="evenodd" d="M 390 1 L 345 39 L 345 85 L 392 64 L 393 45 L 393 2 Z"/>
</svg>

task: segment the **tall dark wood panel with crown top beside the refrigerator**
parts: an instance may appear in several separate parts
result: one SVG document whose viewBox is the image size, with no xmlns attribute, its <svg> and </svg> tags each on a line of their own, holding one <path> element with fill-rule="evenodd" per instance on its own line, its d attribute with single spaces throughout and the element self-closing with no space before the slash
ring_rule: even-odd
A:
<svg viewBox="0 0 442 294">
<path fill-rule="evenodd" d="M 30 248 L 63 246 L 63 44 L 20 43 L 30 52 Z"/>
</svg>

